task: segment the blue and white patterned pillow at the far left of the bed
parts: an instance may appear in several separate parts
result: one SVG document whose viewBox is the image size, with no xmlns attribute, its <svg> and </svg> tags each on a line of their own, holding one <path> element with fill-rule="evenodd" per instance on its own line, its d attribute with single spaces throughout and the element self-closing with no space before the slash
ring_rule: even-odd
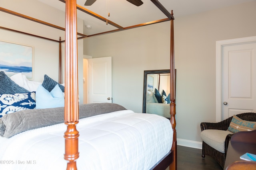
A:
<svg viewBox="0 0 256 170">
<path fill-rule="evenodd" d="M 34 109 L 35 107 L 35 92 L 0 95 L 0 117 L 8 113 L 26 109 Z"/>
</svg>

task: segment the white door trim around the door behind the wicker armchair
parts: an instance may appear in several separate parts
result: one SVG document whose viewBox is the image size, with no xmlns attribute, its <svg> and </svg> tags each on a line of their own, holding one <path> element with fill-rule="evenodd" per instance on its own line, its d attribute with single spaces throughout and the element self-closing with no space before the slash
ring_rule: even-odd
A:
<svg viewBox="0 0 256 170">
<path fill-rule="evenodd" d="M 255 42 L 256 36 L 216 41 L 216 122 L 222 121 L 222 49 L 227 45 Z"/>
</svg>

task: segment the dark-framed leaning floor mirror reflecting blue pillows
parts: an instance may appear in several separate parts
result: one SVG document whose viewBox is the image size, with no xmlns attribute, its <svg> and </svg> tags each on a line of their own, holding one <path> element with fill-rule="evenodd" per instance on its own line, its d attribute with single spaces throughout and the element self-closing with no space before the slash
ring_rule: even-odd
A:
<svg viewBox="0 0 256 170">
<path fill-rule="evenodd" d="M 144 71 L 142 113 L 170 118 L 170 70 Z"/>
</svg>

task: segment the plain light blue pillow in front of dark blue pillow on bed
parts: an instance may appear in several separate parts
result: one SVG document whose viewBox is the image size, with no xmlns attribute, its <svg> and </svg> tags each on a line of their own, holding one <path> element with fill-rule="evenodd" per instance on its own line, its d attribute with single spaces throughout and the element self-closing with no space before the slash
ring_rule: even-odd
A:
<svg viewBox="0 0 256 170">
<path fill-rule="evenodd" d="M 36 90 L 36 109 L 64 107 L 64 95 L 58 84 L 51 92 L 42 85 Z"/>
</svg>

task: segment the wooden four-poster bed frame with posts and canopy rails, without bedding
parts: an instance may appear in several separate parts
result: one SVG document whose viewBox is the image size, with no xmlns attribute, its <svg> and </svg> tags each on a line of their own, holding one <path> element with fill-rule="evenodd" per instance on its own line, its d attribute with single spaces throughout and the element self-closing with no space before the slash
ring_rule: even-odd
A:
<svg viewBox="0 0 256 170">
<path fill-rule="evenodd" d="M 80 139 L 80 132 L 76 129 L 77 126 L 80 124 L 78 123 L 78 119 L 80 119 L 79 113 L 79 106 L 78 106 L 78 69 L 77 69 L 77 39 L 82 39 L 85 37 L 91 37 L 95 35 L 101 35 L 105 33 L 111 33 L 116 31 L 122 31 L 125 29 L 132 29 L 136 27 L 141 27 L 144 25 L 150 25 L 153 23 L 159 23 L 163 21 L 170 21 L 171 29 L 170 29 L 170 123 L 172 127 L 172 145 L 171 149 L 168 150 L 168 152 L 161 156 L 161 159 L 158 160 L 158 162 L 154 163 L 153 166 L 150 166 L 153 169 L 165 169 L 170 165 L 170 170 L 176 170 L 177 169 L 177 159 L 176 159 L 176 120 L 175 120 L 175 114 L 176 114 L 176 104 L 175 104 L 175 68 L 174 68 L 174 26 L 173 26 L 173 14 L 170 14 L 157 0 L 151 0 L 168 18 L 152 21 L 148 23 L 142 23 L 130 27 L 120 27 L 116 23 L 113 23 L 112 21 L 108 21 L 108 23 L 118 27 L 118 29 L 115 29 L 113 31 L 98 33 L 95 35 L 84 35 L 81 33 L 77 33 L 76 28 L 76 10 L 81 10 L 87 14 L 90 14 L 100 20 L 106 20 L 105 18 L 98 16 L 97 14 L 90 12 L 89 10 L 86 10 L 86 8 L 83 8 L 81 6 L 78 6 L 76 4 L 76 0 L 60 0 L 62 2 L 66 3 L 66 29 L 63 29 L 61 27 L 58 27 L 56 25 L 52 25 L 50 23 L 46 23 L 44 21 L 40 21 L 28 16 L 24 16 L 22 14 L 18 14 L 16 12 L 4 9 L 0 7 L 0 11 L 6 12 L 8 14 L 12 14 L 18 17 L 22 17 L 28 20 L 32 20 L 38 23 L 42 23 L 44 25 L 48 25 L 50 27 L 54 27 L 56 29 L 62 29 L 65 30 L 65 107 L 64 107 L 64 124 L 67 125 L 66 132 L 64 133 L 64 139 L 65 139 L 65 153 L 64 153 L 64 159 L 68 161 L 67 163 L 67 169 L 68 170 L 75 170 L 76 169 L 76 161 L 78 161 L 80 154 L 84 155 L 88 152 L 88 150 L 83 150 L 78 148 L 78 140 Z M 1 29 L 6 29 L 9 31 L 16 31 L 13 29 L 8 29 L 5 27 L 0 27 Z M 20 31 L 16 31 L 20 32 Z M 24 33 L 24 32 L 20 32 Z M 28 34 L 28 33 L 25 33 Z M 31 34 L 28 34 L 31 35 Z M 77 37 L 77 36 L 80 37 Z M 36 36 L 36 35 L 32 35 Z M 44 38 L 40 36 L 36 36 L 39 38 Z M 50 40 L 50 39 L 49 39 Z M 56 41 L 56 40 L 53 40 Z M 57 41 L 61 43 L 61 39 Z M 62 68 L 61 68 L 61 49 L 60 49 L 60 73 L 59 73 L 59 82 L 62 83 Z M 122 110 L 122 109 L 118 109 Z M 116 110 L 114 110 L 116 111 Z M 106 112 L 108 113 L 108 112 Z M 139 113 L 137 113 L 139 114 Z M 144 114 L 146 115 L 146 114 Z M 6 116 L 7 117 L 7 116 Z M 9 116 L 11 117 L 11 116 Z M 158 117 L 154 117 L 154 119 L 158 119 Z M 160 118 L 162 119 L 162 118 Z M 165 118 L 164 118 L 165 119 Z M 2 119 L 1 121 L 3 121 Z M 79 120 L 80 121 L 80 120 Z M 160 120 L 162 121 L 162 120 Z M 83 120 L 81 120 L 83 122 Z M 85 123 L 86 124 L 86 123 Z M 169 129 L 170 130 L 170 129 Z M 53 132 L 54 133 L 54 132 Z M 166 132 L 170 135 L 169 132 Z M 20 134 L 18 134 L 20 135 Z M 83 139 L 83 137 L 82 137 Z M 106 146 L 107 147 L 107 146 Z M 79 149 L 79 150 L 78 150 Z M 136 152 L 137 149 L 134 150 Z M 61 153 L 60 153 L 61 154 Z M 1 155 L 0 155 L 1 156 Z M 88 156 L 90 158 L 90 155 Z"/>
</svg>

